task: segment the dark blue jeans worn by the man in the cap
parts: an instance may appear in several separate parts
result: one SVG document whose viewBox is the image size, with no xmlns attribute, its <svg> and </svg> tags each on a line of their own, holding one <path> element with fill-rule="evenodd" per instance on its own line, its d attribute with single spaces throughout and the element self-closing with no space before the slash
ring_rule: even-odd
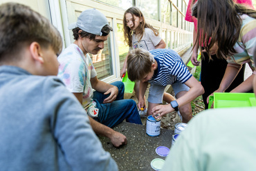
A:
<svg viewBox="0 0 256 171">
<path fill-rule="evenodd" d="M 124 99 L 124 83 L 116 81 L 111 83 L 111 85 L 118 88 L 118 97 L 112 103 L 103 103 L 104 99 L 109 97 L 109 94 L 104 95 L 102 92 L 93 92 L 93 101 L 96 102 L 96 107 L 99 109 L 98 117 L 95 118 L 95 121 L 110 128 L 118 125 L 125 119 L 127 122 L 142 125 L 135 101 Z"/>
</svg>

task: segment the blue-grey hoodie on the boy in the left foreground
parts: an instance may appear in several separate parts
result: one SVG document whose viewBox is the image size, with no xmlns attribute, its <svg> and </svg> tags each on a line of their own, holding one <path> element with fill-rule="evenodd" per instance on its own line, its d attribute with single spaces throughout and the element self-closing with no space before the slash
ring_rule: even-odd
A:
<svg viewBox="0 0 256 171">
<path fill-rule="evenodd" d="M 57 77 L 0 66 L 0 170 L 118 170 Z"/>
</svg>

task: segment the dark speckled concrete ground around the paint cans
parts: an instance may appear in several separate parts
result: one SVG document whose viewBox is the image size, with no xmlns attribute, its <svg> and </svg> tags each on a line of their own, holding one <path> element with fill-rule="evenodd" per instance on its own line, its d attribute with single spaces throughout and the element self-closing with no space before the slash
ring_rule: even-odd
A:
<svg viewBox="0 0 256 171">
<path fill-rule="evenodd" d="M 190 60 L 191 49 L 188 49 L 181 57 L 185 63 Z M 167 90 L 172 91 L 172 89 Z M 135 94 L 125 94 L 125 99 L 134 99 L 137 101 Z M 147 94 L 146 94 L 147 99 Z M 165 159 L 156 154 L 156 148 L 165 146 L 171 148 L 172 135 L 174 134 L 174 125 L 181 122 L 176 112 L 167 114 L 167 117 L 162 119 L 161 134 L 158 137 L 149 137 L 146 134 L 146 119 L 142 118 L 143 125 L 136 125 L 134 123 L 127 123 L 123 121 L 116 125 L 113 130 L 121 132 L 127 137 L 127 145 L 120 148 L 115 148 L 106 137 L 99 136 L 104 150 L 110 152 L 111 157 L 118 164 L 119 170 L 154 170 L 150 163 L 153 159 Z M 165 124 L 172 129 L 165 129 Z"/>
</svg>

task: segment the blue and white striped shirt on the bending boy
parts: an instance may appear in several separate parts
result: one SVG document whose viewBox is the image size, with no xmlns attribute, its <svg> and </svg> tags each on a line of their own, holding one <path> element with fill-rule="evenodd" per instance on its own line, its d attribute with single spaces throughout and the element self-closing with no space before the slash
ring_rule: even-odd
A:
<svg viewBox="0 0 256 171">
<path fill-rule="evenodd" d="M 149 51 L 157 61 L 158 68 L 154 76 L 148 82 L 161 86 L 172 85 L 176 80 L 185 83 L 192 77 L 187 66 L 183 63 L 179 54 L 170 49 L 155 49 Z"/>
</svg>

